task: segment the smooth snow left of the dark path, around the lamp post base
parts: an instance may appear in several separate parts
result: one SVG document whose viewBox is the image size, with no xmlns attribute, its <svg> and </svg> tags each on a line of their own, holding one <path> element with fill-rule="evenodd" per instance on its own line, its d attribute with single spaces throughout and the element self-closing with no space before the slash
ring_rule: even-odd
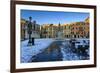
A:
<svg viewBox="0 0 100 73">
<path fill-rule="evenodd" d="M 21 62 L 28 63 L 32 56 L 41 53 L 46 49 L 51 43 L 53 43 L 53 39 L 35 39 L 35 45 L 28 46 L 28 40 L 21 42 Z"/>
</svg>

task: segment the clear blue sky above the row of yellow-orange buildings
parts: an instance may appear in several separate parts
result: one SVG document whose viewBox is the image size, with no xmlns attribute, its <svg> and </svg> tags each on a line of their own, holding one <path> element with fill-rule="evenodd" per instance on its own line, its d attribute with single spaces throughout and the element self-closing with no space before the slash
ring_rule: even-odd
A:
<svg viewBox="0 0 100 73">
<path fill-rule="evenodd" d="M 21 18 L 28 20 L 30 16 L 32 17 L 32 21 L 35 20 L 39 25 L 64 24 L 84 21 L 89 17 L 89 13 L 21 10 Z"/>
</svg>

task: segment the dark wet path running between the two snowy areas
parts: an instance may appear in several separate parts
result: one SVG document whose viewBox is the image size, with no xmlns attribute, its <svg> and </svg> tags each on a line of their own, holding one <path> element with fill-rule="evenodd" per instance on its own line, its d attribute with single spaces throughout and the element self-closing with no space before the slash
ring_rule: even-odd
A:
<svg viewBox="0 0 100 73">
<path fill-rule="evenodd" d="M 62 53 L 60 49 L 61 43 L 62 41 L 55 41 L 42 53 L 33 56 L 32 62 L 62 61 Z"/>
</svg>

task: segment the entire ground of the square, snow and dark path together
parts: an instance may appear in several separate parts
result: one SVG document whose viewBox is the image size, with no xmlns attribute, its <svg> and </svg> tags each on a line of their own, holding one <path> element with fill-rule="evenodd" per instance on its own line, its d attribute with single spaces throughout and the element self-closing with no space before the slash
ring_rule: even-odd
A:
<svg viewBox="0 0 100 73">
<path fill-rule="evenodd" d="M 28 40 L 21 42 L 21 62 L 70 61 L 89 59 L 89 39 L 35 39 L 35 45 L 28 46 Z"/>
</svg>

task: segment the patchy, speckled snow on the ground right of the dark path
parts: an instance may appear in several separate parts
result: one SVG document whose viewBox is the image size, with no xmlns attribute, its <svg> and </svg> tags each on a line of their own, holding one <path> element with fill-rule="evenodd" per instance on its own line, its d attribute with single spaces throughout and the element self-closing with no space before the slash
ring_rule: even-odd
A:
<svg viewBox="0 0 100 73">
<path fill-rule="evenodd" d="M 85 50 L 83 52 L 83 50 L 81 51 L 82 54 L 79 55 L 80 52 L 78 52 L 77 50 L 78 49 L 78 45 L 82 45 L 82 47 L 85 47 L 85 46 L 89 46 L 89 39 L 77 39 L 76 42 L 78 43 L 75 43 L 75 47 L 72 48 L 72 46 L 70 45 L 70 43 L 68 42 L 69 40 L 67 39 L 66 41 L 64 41 L 62 43 L 62 46 L 61 46 L 61 52 L 62 52 L 62 55 L 63 55 L 63 61 L 65 60 L 81 60 L 83 58 L 88 58 L 88 55 L 89 55 L 89 48 L 87 50 Z M 86 49 L 86 48 L 85 48 Z M 77 51 L 76 53 L 73 52 L 73 50 Z M 83 56 L 85 54 L 85 56 Z"/>
</svg>

